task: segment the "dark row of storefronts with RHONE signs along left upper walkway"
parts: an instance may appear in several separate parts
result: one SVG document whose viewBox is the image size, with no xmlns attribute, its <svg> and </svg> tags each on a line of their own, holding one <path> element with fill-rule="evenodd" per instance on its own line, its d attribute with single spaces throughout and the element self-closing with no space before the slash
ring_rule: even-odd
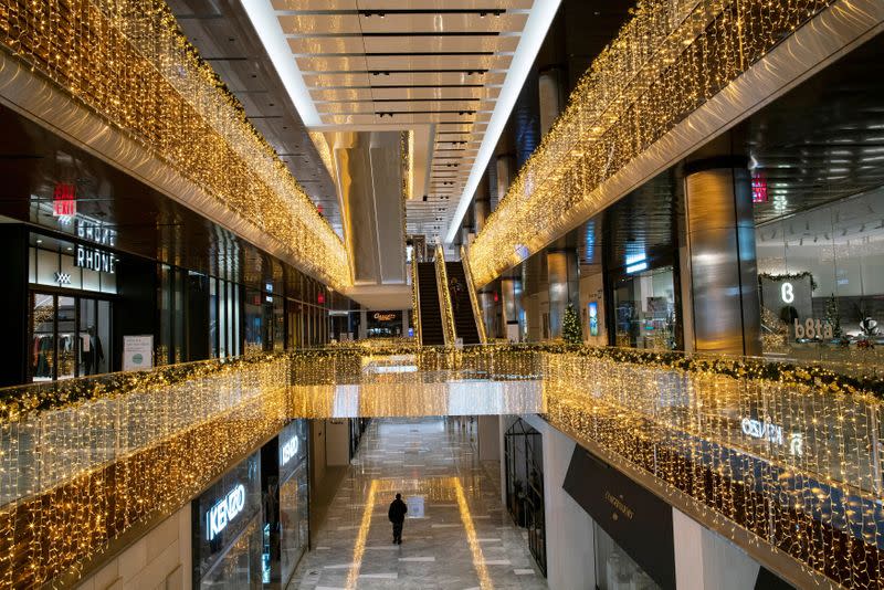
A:
<svg viewBox="0 0 884 590">
<path fill-rule="evenodd" d="M 154 366 L 328 341 L 316 278 L 11 109 L 0 124 L 39 155 L 0 162 L 0 307 L 18 310 L 0 386 L 123 370 L 127 337 L 152 339 Z"/>
</svg>

